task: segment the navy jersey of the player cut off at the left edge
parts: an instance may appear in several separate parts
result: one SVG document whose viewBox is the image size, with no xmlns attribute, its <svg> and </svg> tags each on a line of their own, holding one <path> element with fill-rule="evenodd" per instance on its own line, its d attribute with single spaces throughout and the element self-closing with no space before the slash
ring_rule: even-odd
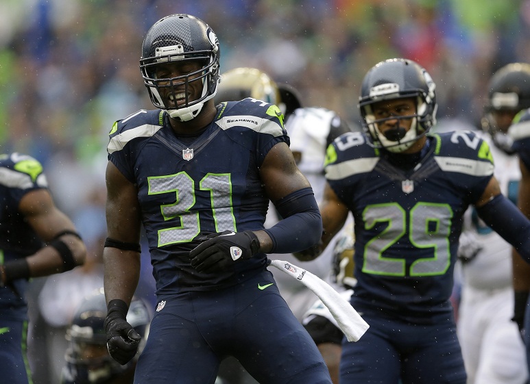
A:
<svg viewBox="0 0 530 384">
<path fill-rule="evenodd" d="M 33 157 L 12 153 L 0 155 L 0 264 L 33 255 L 44 244 L 19 212 L 20 201 L 33 190 L 47 188 L 43 166 Z M 13 281 L 24 296 L 27 281 Z M 23 307 L 25 303 L 9 288 L 0 288 L 1 307 Z"/>
</svg>

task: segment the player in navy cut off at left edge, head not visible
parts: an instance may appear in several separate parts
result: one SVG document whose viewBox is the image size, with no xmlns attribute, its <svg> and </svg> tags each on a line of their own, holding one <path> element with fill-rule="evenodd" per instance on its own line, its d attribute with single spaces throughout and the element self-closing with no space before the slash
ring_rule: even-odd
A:
<svg viewBox="0 0 530 384">
<path fill-rule="evenodd" d="M 28 384 L 28 280 L 83 264 L 86 248 L 71 219 L 56 207 L 43 166 L 33 157 L 0 155 L 0 199 L 1 381 Z"/>
</svg>

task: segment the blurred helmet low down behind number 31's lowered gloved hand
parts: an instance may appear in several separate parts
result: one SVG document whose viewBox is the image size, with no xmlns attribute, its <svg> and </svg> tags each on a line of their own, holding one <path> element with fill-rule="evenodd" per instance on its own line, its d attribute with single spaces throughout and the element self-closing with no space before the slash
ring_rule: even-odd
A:
<svg viewBox="0 0 530 384">
<path fill-rule="evenodd" d="M 108 354 L 104 321 L 107 313 L 103 288 L 88 296 L 74 313 L 67 329 L 69 347 L 62 372 L 64 384 L 106 384 L 112 379 L 134 370 L 138 355 L 143 350 L 149 329 L 149 311 L 143 300 L 134 297 L 127 313 L 127 321 L 142 336 L 138 353 L 121 366 Z M 132 372 L 131 372 L 132 373 Z"/>
</svg>

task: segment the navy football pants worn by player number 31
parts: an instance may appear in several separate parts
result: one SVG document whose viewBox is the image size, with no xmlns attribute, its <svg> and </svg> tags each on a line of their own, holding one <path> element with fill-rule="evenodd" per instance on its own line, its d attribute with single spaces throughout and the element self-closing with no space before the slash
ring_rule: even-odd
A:
<svg viewBox="0 0 530 384">
<path fill-rule="evenodd" d="M 268 270 L 215 292 L 165 298 L 156 312 L 134 384 L 214 383 L 232 355 L 261 384 L 330 384 L 322 356 Z"/>
</svg>

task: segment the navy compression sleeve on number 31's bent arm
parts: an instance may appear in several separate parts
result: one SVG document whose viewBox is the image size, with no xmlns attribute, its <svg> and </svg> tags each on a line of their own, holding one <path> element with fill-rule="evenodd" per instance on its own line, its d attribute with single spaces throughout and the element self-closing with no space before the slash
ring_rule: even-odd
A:
<svg viewBox="0 0 530 384">
<path fill-rule="evenodd" d="M 265 229 L 272 239 L 270 253 L 302 251 L 320 240 L 322 217 L 311 188 L 288 194 L 275 206 L 284 219 Z"/>
</svg>

